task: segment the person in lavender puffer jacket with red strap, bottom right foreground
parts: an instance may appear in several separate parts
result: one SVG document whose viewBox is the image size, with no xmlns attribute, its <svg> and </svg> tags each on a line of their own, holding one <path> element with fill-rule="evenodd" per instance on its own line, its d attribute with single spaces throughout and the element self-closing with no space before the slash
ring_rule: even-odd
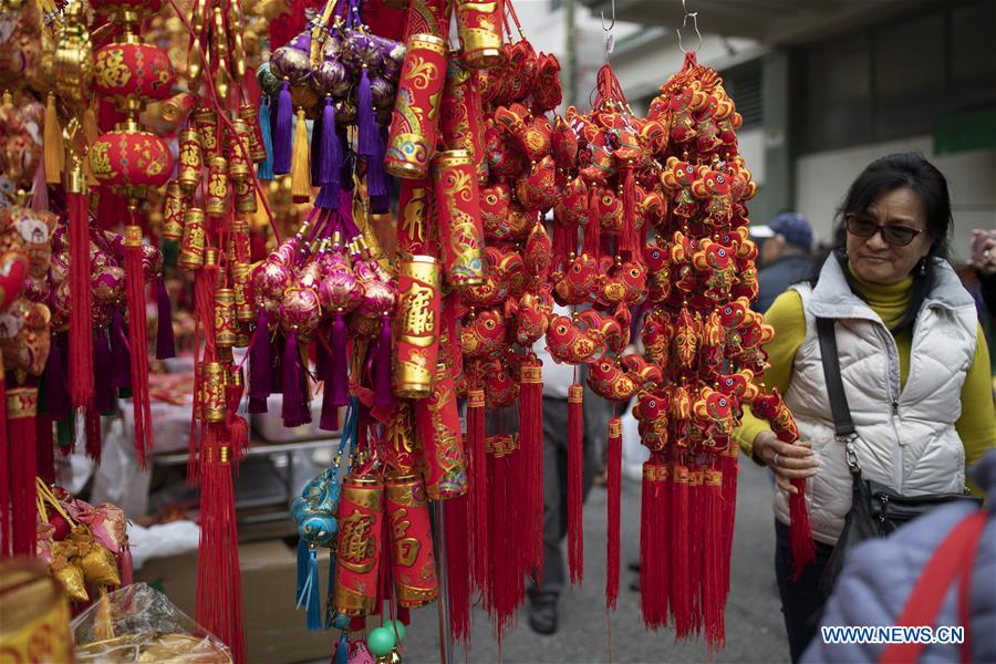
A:
<svg viewBox="0 0 996 664">
<path fill-rule="evenodd" d="M 930 644 L 921 653 L 925 662 L 996 662 L 996 452 L 986 454 L 972 468 L 972 477 L 985 491 L 988 511 L 978 550 L 972 564 L 965 566 L 971 570 L 965 598 L 967 624 L 957 609 L 963 601 L 961 596 L 945 601 L 937 618 L 926 623 L 933 627 L 964 626 L 965 644 Z M 869 540 L 848 551 L 848 561 L 827 601 L 821 625 L 896 625 L 927 561 L 954 527 L 974 511 L 966 502 L 940 507 L 888 538 Z M 956 579 L 959 578 L 957 574 Z M 942 585 L 934 592 L 944 595 L 948 590 Z M 881 662 L 884 647 L 878 643 L 827 643 L 818 636 L 802 661 L 807 664 Z M 966 647 L 971 651 L 961 652 Z"/>
</svg>

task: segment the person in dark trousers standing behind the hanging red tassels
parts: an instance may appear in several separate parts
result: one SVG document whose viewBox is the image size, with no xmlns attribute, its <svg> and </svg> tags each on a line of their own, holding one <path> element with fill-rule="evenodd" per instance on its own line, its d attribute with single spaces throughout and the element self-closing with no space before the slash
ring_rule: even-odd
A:
<svg viewBox="0 0 996 664">
<path fill-rule="evenodd" d="M 557 305 L 553 313 L 570 315 L 571 310 Z M 558 601 L 567 582 L 567 563 L 561 544 L 568 523 L 568 388 L 575 370 L 558 364 L 547 351 L 546 338 L 532 346 L 543 363 L 543 570 L 539 584 L 530 582 L 529 626 L 539 634 L 557 631 Z M 605 401 L 588 387 L 587 372 L 577 369 L 578 383 L 584 385 L 582 402 L 584 439 L 582 456 L 581 500 L 588 498 L 598 458 L 599 442 L 606 438 L 609 411 Z"/>
</svg>

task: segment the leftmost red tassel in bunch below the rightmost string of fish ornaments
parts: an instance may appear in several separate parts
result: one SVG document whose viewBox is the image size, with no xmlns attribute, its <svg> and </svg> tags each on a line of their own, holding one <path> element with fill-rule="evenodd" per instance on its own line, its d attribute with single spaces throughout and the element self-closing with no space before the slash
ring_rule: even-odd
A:
<svg viewBox="0 0 996 664">
<path fill-rule="evenodd" d="M 670 551 L 671 469 L 655 460 L 643 465 L 640 510 L 640 608 L 651 630 L 667 624 L 671 589 Z"/>
</svg>

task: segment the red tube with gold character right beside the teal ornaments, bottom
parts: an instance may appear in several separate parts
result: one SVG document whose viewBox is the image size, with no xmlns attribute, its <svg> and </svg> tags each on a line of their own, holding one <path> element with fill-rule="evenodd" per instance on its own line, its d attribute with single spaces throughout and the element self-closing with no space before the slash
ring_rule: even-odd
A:
<svg viewBox="0 0 996 664">
<path fill-rule="evenodd" d="M 384 485 L 376 477 L 342 480 L 332 604 L 343 615 L 366 615 L 376 608 L 383 499 Z"/>
</svg>

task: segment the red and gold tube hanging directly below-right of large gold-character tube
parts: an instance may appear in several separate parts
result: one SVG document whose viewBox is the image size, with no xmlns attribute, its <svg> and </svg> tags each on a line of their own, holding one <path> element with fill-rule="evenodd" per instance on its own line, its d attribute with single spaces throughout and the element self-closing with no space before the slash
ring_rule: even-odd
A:
<svg viewBox="0 0 996 664">
<path fill-rule="evenodd" d="M 460 414 L 449 369 L 436 369 L 432 396 L 415 402 L 415 430 L 422 447 L 422 475 L 433 500 L 467 492 L 467 464 L 460 438 Z"/>
</svg>

